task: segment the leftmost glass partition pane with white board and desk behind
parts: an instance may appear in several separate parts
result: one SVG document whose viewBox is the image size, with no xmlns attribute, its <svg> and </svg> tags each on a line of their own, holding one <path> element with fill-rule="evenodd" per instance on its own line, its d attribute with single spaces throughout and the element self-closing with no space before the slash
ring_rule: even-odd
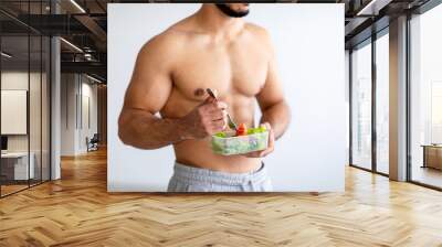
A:
<svg viewBox="0 0 442 247">
<path fill-rule="evenodd" d="M 2 196 L 28 187 L 29 165 L 29 37 L 1 37 L 1 192 Z"/>
</svg>

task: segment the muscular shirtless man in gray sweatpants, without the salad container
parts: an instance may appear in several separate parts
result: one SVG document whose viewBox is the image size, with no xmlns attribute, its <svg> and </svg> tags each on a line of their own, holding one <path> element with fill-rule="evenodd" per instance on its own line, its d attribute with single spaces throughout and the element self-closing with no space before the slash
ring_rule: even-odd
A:
<svg viewBox="0 0 442 247">
<path fill-rule="evenodd" d="M 140 50 L 118 120 L 120 140 L 139 149 L 173 146 L 171 192 L 271 191 L 261 159 L 288 126 L 266 31 L 245 23 L 246 3 L 202 4 Z M 219 101 L 206 93 L 218 92 Z M 270 129 L 269 148 L 239 155 L 211 151 L 210 137 L 228 128 L 227 112 Z M 157 117 L 159 112 L 161 117 Z"/>
</svg>

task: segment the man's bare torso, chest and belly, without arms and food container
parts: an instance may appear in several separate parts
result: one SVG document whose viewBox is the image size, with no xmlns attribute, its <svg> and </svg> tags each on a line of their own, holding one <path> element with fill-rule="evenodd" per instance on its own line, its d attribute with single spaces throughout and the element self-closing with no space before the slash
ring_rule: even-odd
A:
<svg viewBox="0 0 442 247">
<path fill-rule="evenodd" d="M 218 39 L 194 32 L 192 23 L 183 20 L 161 34 L 181 47 L 175 50 L 172 88 L 161 116 L 183 117 L 208 97 L 206 88 L 212 88 L 236 122 L 254 126 L 255 97 L 265 84 L 269 66 L 269 51 L 256 28 L 244 24 L 234 37 Z M 218 171 L 246 172 L 261 163 L 260 158 L 214 154 L 210 137 L 177 142 L 173 149 L 178 162 Z"/>
</svg>

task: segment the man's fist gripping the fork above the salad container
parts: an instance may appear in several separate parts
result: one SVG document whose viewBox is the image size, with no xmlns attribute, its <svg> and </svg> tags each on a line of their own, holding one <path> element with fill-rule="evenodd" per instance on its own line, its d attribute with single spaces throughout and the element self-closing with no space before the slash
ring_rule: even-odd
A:
<svg viewBox="0 0 442 247">
<path fill-rule="evenodd" d="M 227 127 L 227 104 L 208 97 L 204 103 L 193 108 L 182 120 L 185 139 L 202 139 Z"/>
</svg>

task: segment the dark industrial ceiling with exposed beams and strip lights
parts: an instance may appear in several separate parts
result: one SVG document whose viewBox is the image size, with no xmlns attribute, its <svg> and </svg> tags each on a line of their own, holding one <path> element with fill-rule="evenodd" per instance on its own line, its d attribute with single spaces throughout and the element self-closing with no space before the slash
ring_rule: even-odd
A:
<svg viewBox="0 0 442 247">
<path fill-rule="evenodd" d="M 412 10 L 429 0 L 281 0 L 276 2 L 320 2 L 345 4 L 346 47 L 370 35 L 372 24 Z M 183 2 L 152 0 L 1 0 L 0 24 L 4 35 L 21 35 L 29 30 L 42 34 L 61 35 L 62 69 L 64 72 L 91 73 L 106 78 L 107 3 L 131 2 Z M 188 1 L 191 2 L 191 1 Z M 275 1 L 273 1 L 275 2 Z M 55 10 L 57 14 L 55 13 Z M 30 14 L 29 14 L 30 13 Z M 17 50 L 25 49 L 22 42 L 8 39 Z"/>
</svg>

